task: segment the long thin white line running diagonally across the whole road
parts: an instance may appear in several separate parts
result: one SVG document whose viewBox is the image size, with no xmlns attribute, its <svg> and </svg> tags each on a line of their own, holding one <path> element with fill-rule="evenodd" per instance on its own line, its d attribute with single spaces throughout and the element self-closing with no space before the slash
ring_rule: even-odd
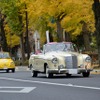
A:
<svg viewBox="0 0 100 100">
<path fill-rule="evenodd" d="M 28 83 L 38 83 L 38 84 L 47 84 L 47 85 L 56 85 L 56 86 L 76 87 L 76 88 L 100 90 L 100 87 L 80 86 L 80 85 L 73 85 L 71 83 L 61 84 L 61 83 L 51 83 L 51 82 L 43 82 L 43 81 L 14 79 L 14 78 L 7 78 L 7 77 L 0 77 L 0 79 L 2 79 L 2 80 L 11 80 L 11 81 L 19 81 L 19 82 L 28 82 Z"/>
</svg>

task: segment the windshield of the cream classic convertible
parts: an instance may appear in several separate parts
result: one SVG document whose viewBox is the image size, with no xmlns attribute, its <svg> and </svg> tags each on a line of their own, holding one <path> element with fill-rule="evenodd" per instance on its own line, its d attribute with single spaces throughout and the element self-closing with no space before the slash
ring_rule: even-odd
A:
<svg viewBox="0 0 100 100">
<path fill-rule="evenodd" d="M 45 45 L 45 53 L 52 51 L 77 51 L 77 48 L 73 46 L 72 43 L 54 43 L 54 44 L 46 44 Z"/>
</svg>

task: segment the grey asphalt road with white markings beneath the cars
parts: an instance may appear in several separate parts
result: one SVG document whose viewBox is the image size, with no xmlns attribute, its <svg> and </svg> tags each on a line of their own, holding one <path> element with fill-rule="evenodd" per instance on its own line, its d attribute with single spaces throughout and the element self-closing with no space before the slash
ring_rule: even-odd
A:
<svg viewBox="0 0 100 100">
<path fill-rule="evenodd" d="M 30 71 L 0 72 L 0 100 L 100 100 L 100 75 L 32 78 Z"/>
</svg>

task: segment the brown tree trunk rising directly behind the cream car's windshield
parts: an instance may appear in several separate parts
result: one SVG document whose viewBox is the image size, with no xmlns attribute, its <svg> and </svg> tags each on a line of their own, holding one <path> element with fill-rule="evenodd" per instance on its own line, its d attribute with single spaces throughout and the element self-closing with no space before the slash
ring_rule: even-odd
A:
<svg viewBox="0 0 100 100">
<path fill-rule="evenodd" d="M 58 36 L 58 41 L 62 42 L 63 41 L 63 29 L 61 27 L 61 23 L 59 20 L 56 22 L 57 24 L 57 36 Z"/>
</svg>

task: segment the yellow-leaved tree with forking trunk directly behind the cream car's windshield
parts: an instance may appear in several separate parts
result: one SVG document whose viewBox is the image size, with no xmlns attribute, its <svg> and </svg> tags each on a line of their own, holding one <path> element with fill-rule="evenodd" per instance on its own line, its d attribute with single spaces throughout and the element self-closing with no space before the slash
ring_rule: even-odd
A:
<svg viewBox="0 0 100 100">
<path fill-rule="evenodd" d="M 52 20 L 56 23 L 57 36 L 59 41 L 63 41 L 63 27 L 61 26 L 61 21 L 65 16 L 68 16 L 72 13 L 77 5 L 73 3 L 72 0 L 36 0 L 32 3 L 33 7 L 31 8 L 32 18 L 42 18 L 48 21 L 48 23 L 52 22 Z M 76 5 L 76 6 L 75 6 Z"/>
</svg>

